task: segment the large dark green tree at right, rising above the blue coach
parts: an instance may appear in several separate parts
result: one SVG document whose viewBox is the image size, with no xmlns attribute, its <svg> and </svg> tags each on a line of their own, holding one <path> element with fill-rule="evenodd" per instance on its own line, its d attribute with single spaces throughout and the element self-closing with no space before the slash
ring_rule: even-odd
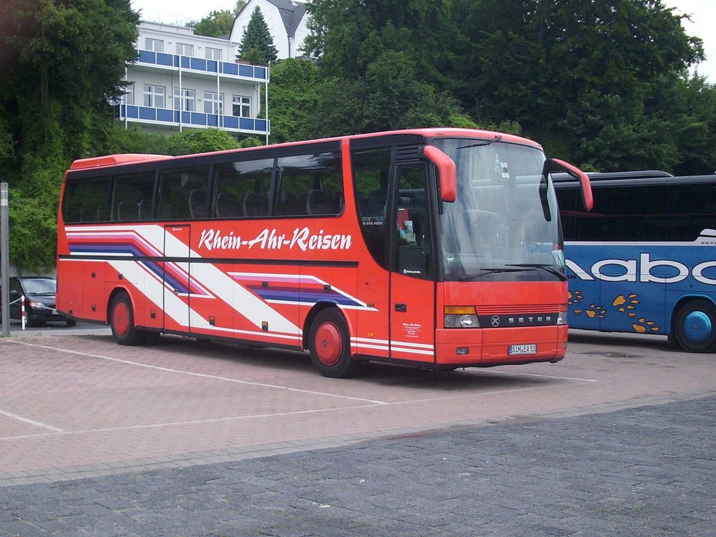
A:
<svg viewBox="0 0 716 537">
<path fill-rule="evenodd" d="M 516 121 L 596 169 L 679 165 L 675 134 L 695 118 L 678 101 L 703 53 L 661 1 L 454 0 L 453 19 L 452 87 L 480 121 Z"/>
</svg>

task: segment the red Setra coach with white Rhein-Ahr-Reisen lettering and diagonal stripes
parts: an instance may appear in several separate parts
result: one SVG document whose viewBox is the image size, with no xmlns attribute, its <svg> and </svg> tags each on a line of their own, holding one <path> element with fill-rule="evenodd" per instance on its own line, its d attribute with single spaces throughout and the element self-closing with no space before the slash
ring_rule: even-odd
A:
<svg viewBox="0 0 716 537">
<path fill-rule="evenodd" d="M 218 153 L 112 155 L 67 171 L 57 309 L 120 344 L 160 333 L 430 369 L 556 362 L 567 284 L 536 142 L 464 129 Z"/>
</svg>

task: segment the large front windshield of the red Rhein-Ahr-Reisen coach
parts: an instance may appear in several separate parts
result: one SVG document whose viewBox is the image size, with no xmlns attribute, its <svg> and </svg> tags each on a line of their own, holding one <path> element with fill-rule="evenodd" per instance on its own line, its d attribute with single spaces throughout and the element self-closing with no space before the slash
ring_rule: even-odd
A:
<svg viewBox="0 0 716 537">
<path fill-rule="evenodd" d="M 565 280 L 558 208 L 544 153 L 493 140 L 445 139 L 458 192 L 442 203 L 442 273 L 447 281 Z"/>
</svg>

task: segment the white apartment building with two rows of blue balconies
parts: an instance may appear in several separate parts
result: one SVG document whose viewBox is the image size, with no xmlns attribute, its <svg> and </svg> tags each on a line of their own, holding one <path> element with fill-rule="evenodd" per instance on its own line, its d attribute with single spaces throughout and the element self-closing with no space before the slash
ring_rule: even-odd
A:
<svg viewBox="0 0 716 537">
<path fill-rule="evenodd" d="M 140 23 L 138 59 L 127 66 L 130 85 L 115 119 L 147 132 L 217 127 L 268 142 L 269 120 L 258 115 L 269 67 L 236 62 L 237 45 L 185 26 Z"/>
</svg>

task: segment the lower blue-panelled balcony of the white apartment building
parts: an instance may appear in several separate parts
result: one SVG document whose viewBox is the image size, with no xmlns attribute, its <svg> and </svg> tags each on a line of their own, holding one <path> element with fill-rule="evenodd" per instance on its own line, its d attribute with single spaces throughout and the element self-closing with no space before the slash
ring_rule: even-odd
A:
<svg viewBox="0 0 716 537">
<path fill-rule="evenodd" d="M 115 120 L 142 125 L 169 127 L 172 130 L 214 127 L 228 132 L 248 135 L 269 135 L 268 120 L 257 117 L 236 117 L 232 115 L 205 114 L 202 112 L 179 112 L 168 108 L 151 108 L 137 105 L 115 105 Z"/>
</svg>

